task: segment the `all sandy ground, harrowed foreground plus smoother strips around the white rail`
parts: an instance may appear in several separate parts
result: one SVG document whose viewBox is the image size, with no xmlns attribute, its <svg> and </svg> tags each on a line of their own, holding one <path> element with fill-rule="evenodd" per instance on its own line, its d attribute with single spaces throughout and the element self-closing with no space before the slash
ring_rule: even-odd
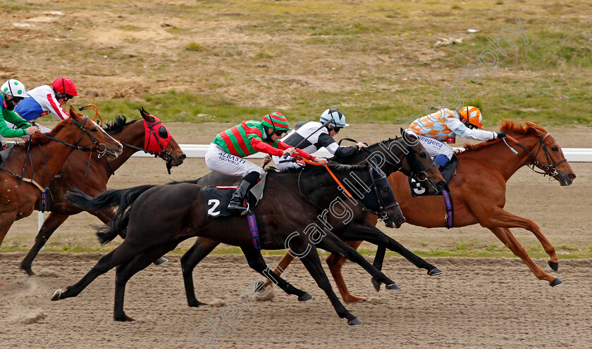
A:
<svg viewBox="0 0 592 349">
<path fill-rule="evenodd" d="M 180 144 L 206 143 L 227 126 L 169 125 Z M 398 125 L 357 125 L 340 137 L 373 142 L 396 134 L 398 129 Z M 592 147 L 587 129 L 548 130 L 562 146 Z M 335 315 L 302 265 L 295 263 L 287 271 L 288 281 L 311 293 L 314 300 L 300 304 L 276 292 L 273 302 L 255 302 L 251 309 L 241 310 L 241 322 L 231 327 L 228 335 L 218 335 L 216 348 L 590 348 L 592 307 L 587 300 L 592 296 L 592 260 L 561 258 L 562 252 L 592 246 L 588 213 L 592 165 L 573 163 L 572 167 L 578 178 L 569 187 L 548 182 L 528 169 L 519 170 L 508 184 L 506 205 L 510 212 L 530 217 L 542 227 L 559 253 L 560 271 L 554 274 L 565 285 L 550 288 L 517 258 L 428 258 L 443 269 L 441 277 L 428 277 L 401 258 L 388 258 L 386 274 L 402 291 L 375 293 L 369 276 L 347 264 L 344 274 L 350 290 L 369 297 L 364 304 L 347 305 L 364 322 L 364 326 L 350 328 Z M 166 183 L 206 172 L 203 159 L 188 159 L 168 176 L 160 160 L 132 158 L 112 177 L 109 187 Z M 97 246 L 90 225 L 98 223 L 87 213 L 70 217 L 48 244 Z M 405 224 L 397 230 L 382 229 L 412 250 L 502 246 L 491 232 L 478 226 L 449 231 Z M 4 243 L 30 246 L 36 230 L 37 217 L 32 215 L 16 222 Z M 529 231 L 512 231 L 527 250 L 540 249 Z M 364 247 L 374 248 L 369 244 Z M 242 300 L 242 291 L 257 277 L 241 255 L 209 256 L 194 276 L 198 299 L 214 305 L 189 308 L 180 257 L 169 255 L 171 262 L 148 267 L 128 284 L 125 309 L 137 319 L 131 324 L 112 320 L 113 271 L 99 277 L 78 298 L 49 301 L 56 288 L 78 281 L 100 256 L 42 252 L 33 264 L 39 275 L 26 277 L 18 269 L 24 253 L 2 253 L 0 281 L 7 285 L 0 288 L 1 346 L 207 348 L 211 343 L 191 341 L 192 331 L 202 324 L 207 326 L 208 318 L 221 318 L 224 307 L 235 299 Z M 266 260 L 278 262 L 278 257 L 266 256 Z M 537 262 L 545 265 L 545 260 Z M 204 336 L 206 331 L 199 334 Z"/>
</svg>

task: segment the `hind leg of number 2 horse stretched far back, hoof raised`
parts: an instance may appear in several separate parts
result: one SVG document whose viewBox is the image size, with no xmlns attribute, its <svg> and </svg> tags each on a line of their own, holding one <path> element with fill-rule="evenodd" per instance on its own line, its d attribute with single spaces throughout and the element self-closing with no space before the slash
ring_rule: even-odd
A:
<svg viewBox="0 0 592 349">
<path fill-rule="evenodd" d="M 86 286 L 88 286 L 94 279 L 97 279 L 99 275 L 108 272 L 113 267 L 128 262 L 134 258 L 135 255 L 141 252 L 137 246 L 130 246 L 130 244 L 125 242 L 126 240 L 124 240 L 123 243 L 115 250 L 112 250 L 101 257 L 99 262 L 97 262 L 97 264 L 94 265 L 92 269 L 90 269 L 90 272 L 82 277 L 82 279 L 80 279 L 80 281 L 78 281 L 76 284 L 66 287 L 65 290 L 56 290 L 56 292 L 54 292 L 54 296 L 51 296 L 51 300 L 60 300 L 63 298 L 78 296 L 78 294 L 82 292 L 82 290 L 85 289 Z"/>
</svg>

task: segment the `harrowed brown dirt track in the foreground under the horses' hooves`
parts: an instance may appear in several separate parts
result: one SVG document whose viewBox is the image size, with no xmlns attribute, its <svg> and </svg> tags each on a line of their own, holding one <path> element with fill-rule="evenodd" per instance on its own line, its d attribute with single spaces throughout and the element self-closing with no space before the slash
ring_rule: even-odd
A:
<svg viewBox="0 0 592 349">
<path fill-rule="evenodd" d="M 386 274 L 401 291 L 376 293 L 369 275 L 346 264 L 350 289 L 366 303 L 346 305 L 363 326 L 340 319 L 300 262 L 286 270 L 288 281 L 314 299 L 299 303 L 275 291 L 273 301 L 240 308 L 235 326 L 221 314 L 257 274 L 240 255 L 213 255 L 194 273 L 197 298 L 211 305 L 187 307 L 179 257 L 150 266 L 128 283 L 127 315 L 137 321 L 113 322 L 114 272 L 99 277 L 77 298 L 51 302 L 56 288 L 78 281 L 98 253 L 46 253 L 38 259 L 38 277 L 18 272 L 23 253 L 5 253 L 0 279 L 0 343 L 3 348 L 208 348 L 192 342 L 214 330 L 215 348 L 591 348 L 592 260 L 566 260 L 557 273 L 566 284 L 550 288 L 537 281 L 519 260 L 505 258 L 430 258 L 443 270 L 428 277 L 402 258 L 388 258 Z M 278 262 L 278 256 L 266 257 Z M 537 260 L 544 265 L 544 260 Z M 324 263 L 323 263 L 324 265 Z M 326 270 L 328 272 L 328 270 Z M 235 317 L 236 319 L 236 317 Z M 214 348 L 214 346 L 210 347 Z"/>
</svg>

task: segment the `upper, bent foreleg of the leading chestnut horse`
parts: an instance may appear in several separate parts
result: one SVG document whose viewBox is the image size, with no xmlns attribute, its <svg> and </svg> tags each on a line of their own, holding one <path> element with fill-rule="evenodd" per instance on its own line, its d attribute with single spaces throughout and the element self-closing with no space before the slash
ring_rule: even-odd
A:
<svg viewBox="0 0 592 349">
<path fill-rule="evenodd" d="M 555 248 L 550 243 L 550 241 L 548 241 L 547 237 L 543 234 L 543 231 L 541 231 L 541 228 L 539 228 L 535 222 L 527 218 L 514 215 L 502 208 L 498 208 L 497 210 L 493 211 L 491 217 L 489 217 L 486 224 L 487 225 L 481 225 L 487 228 L 523 228 L 531 231 L 531 233 L 534 234 L 534 236 L 536 236 L 536 239 L 538 239 L 538 241 L 541 242 L 541 245 L 543 245 L 545 252 L 549 255 L 549 267 L 553 269 L 555 272 L 557 272 L 557 269 L 559 267 L 559 259 L 557 258 Z"/>
</svg>

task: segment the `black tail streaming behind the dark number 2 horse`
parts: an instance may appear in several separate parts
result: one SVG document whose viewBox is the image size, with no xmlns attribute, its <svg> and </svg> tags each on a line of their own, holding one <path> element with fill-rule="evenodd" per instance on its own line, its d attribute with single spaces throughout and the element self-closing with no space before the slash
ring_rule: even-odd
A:
<svg viewBox="0 0 592 349">
<path fill-rule="evenodd" d="M 74 191 L 68 191 L 66 193 L 66 198 L 75 205 L 89 210 L 104 210 L 109 207 L 114 208 L 115 206 L 119 206 L 113 216 L 113 221 L 106 224 L 105 227 L 99 228 L 97 231 L 97 238 L 99 238 L 101 245 L 104 245 L 115 239 L 118 235 L 125 236 L 125 229 L 128 228 L 128 222 L 130 220 L 129 208 L 144 191 L 154 186 L 156 184 L 134 186 L 128 189 L 107 190 L 94 198 L 79 189 L 74 189 Z"/>
</svg>

